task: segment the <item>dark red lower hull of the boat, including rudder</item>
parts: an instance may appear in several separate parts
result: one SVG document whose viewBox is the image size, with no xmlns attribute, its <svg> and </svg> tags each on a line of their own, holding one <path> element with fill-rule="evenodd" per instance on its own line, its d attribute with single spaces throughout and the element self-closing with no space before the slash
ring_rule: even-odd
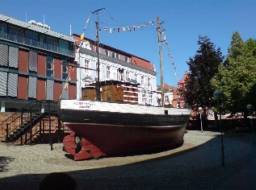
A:
<svg viewBox="0 0 256 190">
<path fill-rule="evenodd" d="M 66 123 L 76 134 L 64 139 L 65 150 L 74 159 L 142 154 L 183 144 L 186 126 L 134 127 Z M 80 142 L 75 142 L 75 137 Z M 78 138 L 77 138 L 78 141 Z M 77 147 L 76 149 L 74 147 Z"/>
</svg>

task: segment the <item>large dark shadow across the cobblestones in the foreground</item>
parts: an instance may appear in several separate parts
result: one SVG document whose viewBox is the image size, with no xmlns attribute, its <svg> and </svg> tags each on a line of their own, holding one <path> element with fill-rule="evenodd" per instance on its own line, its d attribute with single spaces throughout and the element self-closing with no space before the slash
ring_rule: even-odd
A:
<svg viewBox="0 0 256 190">
<path fill-rule="evenodd" d="M 253 159 L 255 147 L 246 142 L 247 138 L 248 135 L 225 136 L 225 167 L 220 164 L 220 137 L 216 136 L 199 147 L 155 159 L 66 173 L 76 180 L 78 189 L 216 189 Z M 3 168 L 8 164 L 6 160 L 0 163 Z M 100 159 L 93 162 L 100 163 Z M 34 190 L 44 176 L 6 177 L 0 179 L 0 187 Z"/>
</svg>

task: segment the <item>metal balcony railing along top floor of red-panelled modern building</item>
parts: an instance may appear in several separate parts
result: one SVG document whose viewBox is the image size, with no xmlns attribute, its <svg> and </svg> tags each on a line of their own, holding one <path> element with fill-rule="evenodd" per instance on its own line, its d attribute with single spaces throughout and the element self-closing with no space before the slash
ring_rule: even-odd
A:
<svg viewBox="0 0 256 190">
<path fill-rule="evenodd" d="M 15 43 L 22 43 L 28 46 L 32 46 L 32 47 L 38 47 L 40 49 L 44 49 L 44 50 L 48 50 L 51 52 L 58 52 L 67 56 L 74 56 L 74 52 L 70 51 L 69 49 L 65 49 L 65 48 L 61 48 L 61 47 L 57 47 L 57 46 L 53 46 L 51 44 L 48 43 L 42 43 L 33 39 L 26 39 L 23 37 L 20 37 L 18 35 L 12 35 L 6 32 L 2 32 L 0 31 L 0 39 L 7 39 L 10 41 L 13 41 Z"/>
</svg>

